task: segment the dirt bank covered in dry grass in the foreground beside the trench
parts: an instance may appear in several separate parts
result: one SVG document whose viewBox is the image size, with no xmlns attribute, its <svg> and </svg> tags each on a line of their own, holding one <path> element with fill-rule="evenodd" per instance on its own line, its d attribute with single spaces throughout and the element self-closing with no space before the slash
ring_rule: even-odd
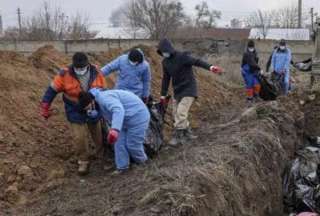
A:
<svg viewBox="0 0 320 216">
<path fill-rule="evenodd" d="M 217 110 L 200 138 L 165 148 L 146 167 L 111 176 L 97 161 L 79 178 L 18 209 L 17 215 L 282 215 L 281 175 L 301 144 L 294 103 Z M 226 111 L 227 110 L 227 111 Z M 241 115 L 239 115 L 241 114 Z"/>
</svg>

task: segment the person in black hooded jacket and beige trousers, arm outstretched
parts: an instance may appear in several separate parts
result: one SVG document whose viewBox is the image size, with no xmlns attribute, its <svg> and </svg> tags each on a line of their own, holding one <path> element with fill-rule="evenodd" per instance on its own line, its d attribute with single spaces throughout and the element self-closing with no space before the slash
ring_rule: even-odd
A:
<svg viewBox="0 0 320 216">
<path fill-rule="evenodd" d="M 175 130 L 169 144 L 182 144 L 186 139 L 196 138 L 196 136 L 192 135 L 188 121 L 189 109 L 198 96 L 197 83 L 192 67 L 201 67 L 216 74 L 220 74 L 222 69 L 193 58 L 187 52 L 175 50 L 168 39 L 160 41 L 158 53 L 164 57 L 162 61 L 161 103 L 165 104 L 167 102 L 166 96 L 171 80 L 174 93 L 173 116 Z"/>
</svg>

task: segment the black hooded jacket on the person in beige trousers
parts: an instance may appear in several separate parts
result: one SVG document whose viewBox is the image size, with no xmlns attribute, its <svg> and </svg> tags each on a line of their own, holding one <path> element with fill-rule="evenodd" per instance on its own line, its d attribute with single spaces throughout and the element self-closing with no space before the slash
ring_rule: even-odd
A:
<svg viewBox="0 0 320 216">
<path fill-rule="evenodd" d="M 170 53 L 169 58 L 162 61 L 163 77 L 161 95 L 166 96 L 172 79 L 174 98 L 181 100 L 183 97 L 197 97 L 197 83 L 193 74 L 192 66 L 210 70 L 211 65 L 193 58 L 187 52 L 176 51 L 169 40 L 163 39 L 158 46 L 158 53 Z"/>
</svg>

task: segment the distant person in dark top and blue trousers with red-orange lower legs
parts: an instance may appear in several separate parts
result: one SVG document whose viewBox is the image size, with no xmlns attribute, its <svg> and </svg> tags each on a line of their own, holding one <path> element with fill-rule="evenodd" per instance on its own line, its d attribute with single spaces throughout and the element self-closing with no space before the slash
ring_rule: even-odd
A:
<svg viewBox="0 0 320 216">
<path fill-rule="evenodd" d="M 261 89 L 258 79 L 258 73 L 261 69 L 258 63 L 259 57 L 254 41 L 250 40 L 248 42 L 247 49 L 243 54 L 241 63 L 241 74 L 246 84 L 247 102 L 249 105 L 258 100 Z"/>
</svg>

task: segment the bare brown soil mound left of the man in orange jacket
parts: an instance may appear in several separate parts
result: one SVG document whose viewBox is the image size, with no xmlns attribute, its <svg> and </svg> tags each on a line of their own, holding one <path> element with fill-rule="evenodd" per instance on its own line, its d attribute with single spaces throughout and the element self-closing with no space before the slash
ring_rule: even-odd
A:
<svg viewBox="0 0 320 216">
<path fill-rule="evenodd" d="M 42 183 L 64 176 L 71 144 L 64 117 L 39 118 L 39 101 L 49 84 L 47 71 L 25 57 L 0 52 L 0 209 L 24 203 Z M 61 109 L 60 106 L 58 106 Z M 55 108 L 57 108 L 55 106 Z M 56 175 L 55 173 L 59 173 Z M 1 212 L 0 211 L 0 212 Z M 1 214 L 3 215 L 3 214 Z"/>
</svg>

